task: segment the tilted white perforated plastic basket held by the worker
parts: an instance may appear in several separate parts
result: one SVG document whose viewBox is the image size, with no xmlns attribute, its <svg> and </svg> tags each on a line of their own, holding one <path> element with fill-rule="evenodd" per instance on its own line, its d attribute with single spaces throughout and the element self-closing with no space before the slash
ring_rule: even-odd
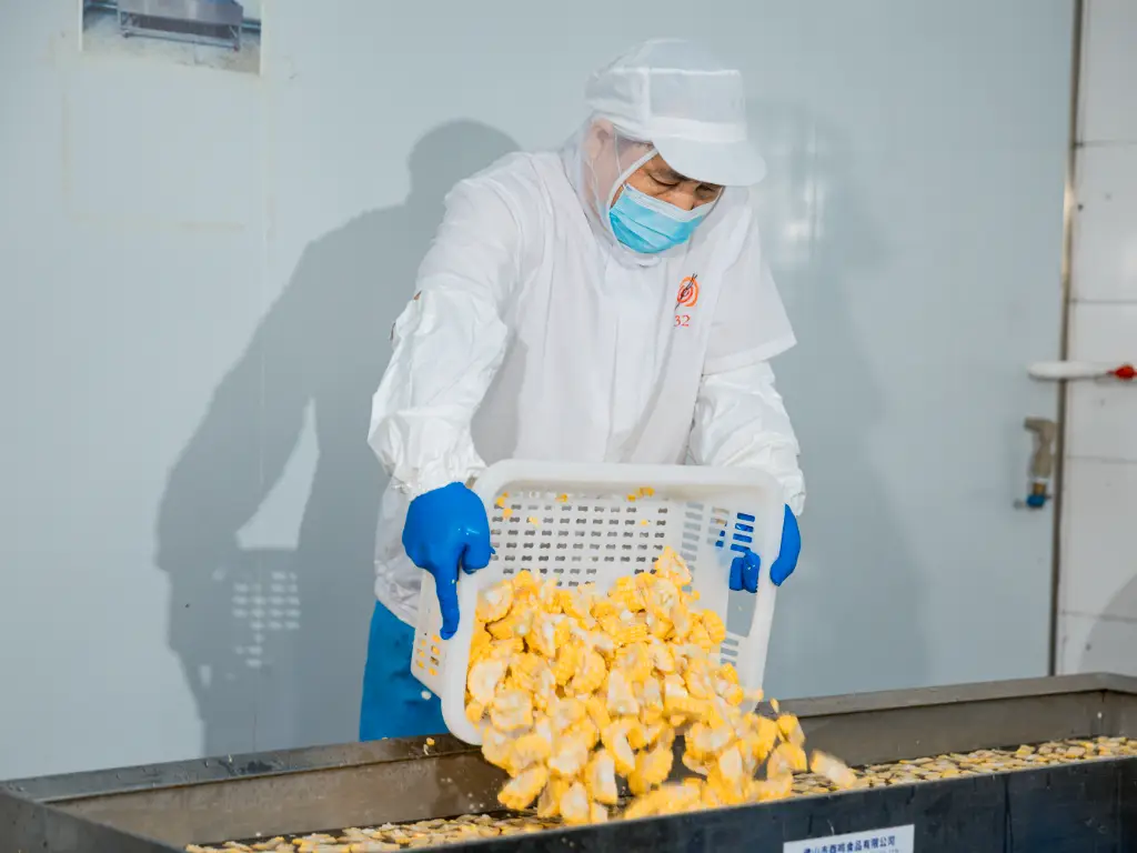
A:
<svg viewBox="0 0 1137 853">
<path fill-rule="evenodd" d="M 641 496 L 647 489 L 650 496 Z M 622 575 L 650 570 L 671 546 L 687 561 L 699 606 L 727 624 L 721 660 L 735 664 L 746 689 L 762 686 L 777 590 L 770 565 L 785 512 L 773 478 L 740 469 L 511 459 L 489 467 L 474 491 L 485 503 L 497 553 L 485 569 L 459 573 L 462 615 L 449 640 L 439 636 L 434 580 L 423 572 L 410 660 L 414 676 L 441 698 L 456 737 L 481 743 L 464 709 L 478 594 L 523 569 L 558 586 L 592 582 L 606 590 Z M 508 517 L 497 506 L 503 494 Z M 757 595 L 729 587 L 730 564 L 746 548 L 762 558 Z"/>
</svg>

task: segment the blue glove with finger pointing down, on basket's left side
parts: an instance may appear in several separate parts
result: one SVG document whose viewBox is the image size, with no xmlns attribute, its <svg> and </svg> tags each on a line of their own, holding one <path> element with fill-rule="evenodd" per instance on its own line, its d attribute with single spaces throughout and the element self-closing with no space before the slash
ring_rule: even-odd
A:
<svg viewBox="0 0 1137 853">
<path fill-rule="evenodd" d="M 453 482 L 410 502 L 402 525 L 410 562 L 434 575 L 442 610 L 442 639 L 458 630 L 458 565 L 472 574 L 489 565 L 490 522 L 481 498 Z"/>
</svg>

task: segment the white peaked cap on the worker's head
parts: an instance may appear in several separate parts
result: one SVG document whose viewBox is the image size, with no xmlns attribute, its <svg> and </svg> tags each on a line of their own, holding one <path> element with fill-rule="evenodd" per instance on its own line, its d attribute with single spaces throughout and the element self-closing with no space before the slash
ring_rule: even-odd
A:
<svg viewBox="0 0 1137 853">
<path fill-rule="evenodd" d="M 750 144 L 742 74 L 680 39 L 644 42 L 588 82 L 588 106 L 655 146 L 686 177 L 749 187 L 766 174 Z"/>
</svg>

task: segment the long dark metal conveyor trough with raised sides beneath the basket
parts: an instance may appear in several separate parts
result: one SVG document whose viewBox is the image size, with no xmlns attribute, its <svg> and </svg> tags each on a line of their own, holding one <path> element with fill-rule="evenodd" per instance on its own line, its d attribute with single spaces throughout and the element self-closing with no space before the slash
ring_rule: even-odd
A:
<svg viewBox="0 0 1137 853">
<path fill-rule="evenodd" d="M 1057 679 L 786 703 L 811 747 L 877 764 L 1019 744 L 1137 737 L 1137 679 Z M 389 740 L 0 785 L 0 850 L 153 853 L 190 843 L 487 812 L 503 776 L 450 738 Z M 1137 850 L 1137 759 L 617 821 L 447 850 L 781 850 L 913 827 L 915 850 Z M 886 833 L 887 835 L 887 833 Z M 815 845 L 820 848 L 823 842 Z"/>
</svg>

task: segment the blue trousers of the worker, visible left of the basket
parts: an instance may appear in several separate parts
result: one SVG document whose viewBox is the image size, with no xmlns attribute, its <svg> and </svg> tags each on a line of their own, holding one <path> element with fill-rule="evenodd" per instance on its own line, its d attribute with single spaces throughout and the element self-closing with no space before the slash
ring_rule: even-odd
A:
<svg viewBox="0 0 1137 853">
<path fill-rule="evenodd" d="M 424 699 L 426 688 L 410 674 L 414 641 L 415 629 L 375 602 L 363 673 L 360 740 L 446 734 L 438 696 Z"/>
</svg>

